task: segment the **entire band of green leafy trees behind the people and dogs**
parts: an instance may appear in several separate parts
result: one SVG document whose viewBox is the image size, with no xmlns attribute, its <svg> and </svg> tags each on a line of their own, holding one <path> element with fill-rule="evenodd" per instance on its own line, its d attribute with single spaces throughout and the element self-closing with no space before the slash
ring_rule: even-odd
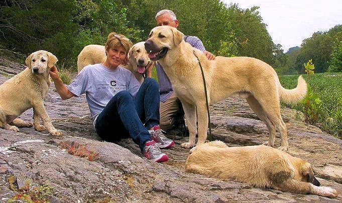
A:
<svg viewBox="0 0 342 203">
<path fill-rule="evenodd" d="M 259 7 L 241 9 L 219 0 L 5 0 L 0 7 L 0 49 L 25 55 L 48 50 L 63 67 L 75 67 L 82 48 L 104 44 L 110 32 L 124 34 L 133 43 L 144 41 L 162 9 L 174 11 L 178 29 L 199 37 L 215 55 L 254 57 L 283 72 L 303 71 L 309 59 L 316 72 L 323 72 L 338 66 L 340 57 L 340 26 L 313 34 L 295 52 L 297 57 L 289 57 L 273 43 Z M 327 63 L 330 58 L 334 60 Z"/>
</svg>

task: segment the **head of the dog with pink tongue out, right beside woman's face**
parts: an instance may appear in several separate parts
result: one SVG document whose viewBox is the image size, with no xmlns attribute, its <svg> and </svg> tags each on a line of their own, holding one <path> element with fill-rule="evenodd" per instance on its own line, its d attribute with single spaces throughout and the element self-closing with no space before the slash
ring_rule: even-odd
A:
<svg viewBox="0 0 342 203">
<path fill-rule="evenodd" d="M 138 42 L 133 45 L 128 52 L 129 63 L 133 66 L 133 69 L 140 74 L 144 74 L 146 68 L 151 64 L 144 44 L 145 42 Z"/>
</svg>

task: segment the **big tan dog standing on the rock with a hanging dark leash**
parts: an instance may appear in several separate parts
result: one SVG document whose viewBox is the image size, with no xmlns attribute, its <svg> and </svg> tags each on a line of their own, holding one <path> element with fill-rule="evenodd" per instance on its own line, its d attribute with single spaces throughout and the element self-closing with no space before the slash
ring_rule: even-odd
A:
<svg viewBox="0 0 342 203">
<path fill-rule="evenodd" d="M 287 129 L 280 115 L 280 100 L 297 102 L 302 99 L 306 94 L 304 79 L 301 76 L 298 78 L 295 89 L 284 89 L 276 72 L 265 62 L 250 57 L 216 57 L 209 61 L 200 50 L 185 43 L 183 36 L 175 28 L 160 26 L 151 30 L 145 43 L 151 60 L 158 60 L 163 66 L 188 119 L 189 142 L 181 146 L 190 148 L 195 145 L 196 109 L 197 144 L 206 140 L 208 115 L 200 62 L 205 75 L 208 102 L 221 101 L 233 95 L 246 98 L 253 111 L 267 125 L 267 145 L 274 145 L 278 128 L 281 134 L 280 149 L 287 151 Z"/>
</svg>

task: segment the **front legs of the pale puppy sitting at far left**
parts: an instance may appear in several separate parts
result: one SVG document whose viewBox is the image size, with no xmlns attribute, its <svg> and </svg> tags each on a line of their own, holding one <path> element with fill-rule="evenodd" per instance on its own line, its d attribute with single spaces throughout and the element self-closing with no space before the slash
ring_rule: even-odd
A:
<svg viewBox="0 0 342 203">
<path fill-rule="evenodd" d="M 43 101 L 38 101 L 33 104 L 33 125 L 35 126 L 35 129 L 42 129 L 39 118 L 42 119 L 43 124 L 45 128 L 49 131 L 52 135 L 63 135 L 63 132 L 60 130 L 57 130 L 51 123 L 51 119 L 49 115 L 47 114 Z M 38 130 L 39 131 L 39 130 Z"/>
</svg>

